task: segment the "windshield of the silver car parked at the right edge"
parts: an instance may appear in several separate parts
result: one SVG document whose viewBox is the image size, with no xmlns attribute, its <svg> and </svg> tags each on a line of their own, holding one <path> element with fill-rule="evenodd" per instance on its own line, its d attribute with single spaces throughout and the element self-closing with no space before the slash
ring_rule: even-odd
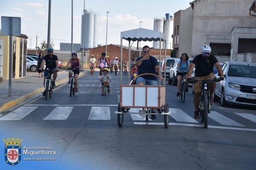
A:
<svg viewBox="0 0 256 170">
<path fill-rule="evenodd" d="M 228 76 L 256 78 L 255 72 L 256 72 L 255 66 L 231 65 L 229 68 Z"/>
</svg>

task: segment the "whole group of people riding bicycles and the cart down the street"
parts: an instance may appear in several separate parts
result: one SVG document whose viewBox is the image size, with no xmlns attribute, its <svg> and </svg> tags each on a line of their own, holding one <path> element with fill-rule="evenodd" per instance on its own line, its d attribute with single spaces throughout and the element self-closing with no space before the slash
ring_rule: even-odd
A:
<svg viewBox="0 0 256 170">
<path fill-rule="evenodd" d="M 58 57 L 56 55 L 53 55 L 53 49 L 47 48 L 48 54 L 43 57 L 40 70 L 43 69 L 44 63 L 46 63 L 46 69 L 44 70 L 44 81 L 47 78 L 47 74 L 49 71 L 52 70 L 58 70 Z M 130 72 L 131 76 L 141 75 L 144 73 L 152 73 L 154 75 L 161 74 L 160 67 L 158 64 L 158 61 L 155 57 L 150 55 L 150 48 L 145 45 L 142 48 L 143 56 L 138 57 L 136 61 L 132 59 L 130 62 Z M 74 69 L 74 77 L 75 77 L 75 85 L 78 87 L 78 75 L 80 73 L 81 69 L 81 62 L 77 58 L 77 52 L 73 51 L 71 54 L 72 58 L 68 61 L 68 64 L 66 68 L 71 64 L 71 70 L 68 73 L 68 76 L 70 78 L 73 69 Z M 201 54 L 198 54 L 196 57 L 194 57 L 193 61 L 190 63 L 188 60 L 188 55 L 186 53 L 183 53 L 180 57 L 180 60 L 177 64 L 177 79 L 178 79 L 178 86 L 177 86 L 177 97 L 180 95 L 180 83 L 182 81 L 182 76 L 180 72 L 187 72 L 185 75 L 186 79 L 186 91 L 188 92 L 188 81 L 191 80 L 191 74 L 192 70 L 195 68 L 195 75 L 194 78 L 196 79 L 212 79 L 215 78 L 213 75 L 213 66 L 216 67 L 216 69 L 219 72 L 220 79 L 224 79 L 224 75 L 221 69 L 221 66 L 219 64 L 219 61 L 215 56 L 211 54 L 211 48 L 209 45 L 203 45 L 201 47 Z M 95 65 L 96 59 L 94 58 L 94 55 L 91 56 L 89 59 L 89 63 L 92 65 Z M 109 69 L 113 68 L 114 66 L 117 66 L 117 68 L 120 68 L 120 60 L 118 60 L 117 57 L 114 58 L 114 61 L 111 61 L 108 56 L 106 56 L 105 52 L 102 52 L 102 56 L 99 58 L 99 61 L 96 63 L 96 67 L 99 67 L 99 79 L 102 82 L 102 94 L 103 94 L 103 88 L 106 86 L 108 88 L 108 93 L 110 93 L 110 86 L 109 82 L 111 81 L 110 75 L 108 75 Z M 122 63 L 123 70 L 127 72 L 128 65 L 127 62 L 124 61 Z M 103 74 L 102 74 L 103 73 Z M 55 80 L 57 78 L 57 72 L 53 73 L 53 86 L 55 86 Z M 160 75 L 161 80 L 163 80 L 163 76 Z M 106 83 L 107 82 L 107 83 Z M 68 82 L 69 83 L 69 82 Z M 44 83 L 43 83 L 44 84 Z M 143 75 L 137 78 L 136 84 L 138 85 L 158 85 L 157 78 L 152 75 Z M 210 104 L 213 104 L 213 93 L 216 87 L 216 83 L 214 81 L 210 82 Z M 194 118 L 199 119 L 199 102 L 200 102 L 200 91 L 201 91 L 201 82 L 196 82 L 194 84 Z M 78 88 L 76 89 L 76 92 L 78 92 Z M 43 93 L 45 95 L 45 93 Z M 155 110 L 152 109 L 152 113 L 155 113 Z M 152 120 L 156 119 L 156 116 L 153 114 L 151 116 Z"/>
</svg>

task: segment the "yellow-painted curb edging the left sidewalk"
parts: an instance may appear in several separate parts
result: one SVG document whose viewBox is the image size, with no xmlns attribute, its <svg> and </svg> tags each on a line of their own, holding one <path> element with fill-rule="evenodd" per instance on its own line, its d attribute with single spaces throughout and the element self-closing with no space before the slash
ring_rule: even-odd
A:
<svg viewBox="0 0 256 170">
<path fill-rule="evenodd" d="M 82 76 L 86 73 L 87 73 L 86 71 L 82 72 L 82 74 L 80 74 L 80 76 Z M 57 85 L 56 87 L 61 86 L 62 84 L 66 83 L 67 81 L 68 81 L 68 78 L 63 78 L 62 80 L 57 81 L 56 82 L 56 85 Z M 25 101 L 26 99 L 31 98 L 34 95 L 37 95 L 37 94 L 41 93 L 43 90 L 44 90 L 44 87 L 42 87 L 41 89 L 37 89 L 36 91 L 31 92 L 31 93 L 29 93 L 27 95 L 24 95 L 22 97 L 19 97 L 19 98 L 13 100 L 13 101 L 9 101 L 9 102 L 3 104 L 3 106 L 0 108 L 0 112 L 3 112 L 3 111 L 5 111 L 5 110 L 7 110 L 11 107 L 14 107 L 15 105 L 21 103 L 22 101 Z"/>
</svg>

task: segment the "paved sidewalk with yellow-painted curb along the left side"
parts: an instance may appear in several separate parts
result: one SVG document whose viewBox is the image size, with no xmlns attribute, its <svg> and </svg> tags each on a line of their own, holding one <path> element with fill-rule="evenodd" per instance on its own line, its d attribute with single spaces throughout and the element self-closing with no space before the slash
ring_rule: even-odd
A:
<svg viewBox="0 0 256 170">
<path fill-rule="evenodd" d="M 80 72 L 80 75 L 86 74 L 88 70 Z M 68 82 L 68 71 L 60 69 L 56 79 L 56 88 L 59 85 Z M 0 82 L 0 113 L 8 111 L 11 107 L 22 102 L 28 102 L 42 95 L 43 78 L 38 78 L 37 72 L 27 72 L 27 77 L 12 79 L 11 96 L 9 94 L 9 81 Z"/>
</svg>

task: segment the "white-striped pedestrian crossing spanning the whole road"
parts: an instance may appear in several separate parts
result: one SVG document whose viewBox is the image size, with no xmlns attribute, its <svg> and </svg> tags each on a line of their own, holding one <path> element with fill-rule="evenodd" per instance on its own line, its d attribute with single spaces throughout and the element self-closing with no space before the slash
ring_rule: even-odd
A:
<svg viewBox="0 0 256 170">
<path fill-rule="evenodd" d="M 48 105 L 47 105 L 48 106 Z M 46 105 L 29 105 L 26 104 L 25 106 L 19 107 L 16 110 L 13 110 L 12 112 L 6 114 L 5 116 L 0 117 L 0 121 L 3 120 L 22 120 L 26 119 L 26 116 L 36 112 L 36 109 L 39 107 L 47 107 Z M 69 116 L 72 116 L 72 113 L 74 113 L 74 107 L 75 106 L 59 106 L 59 105 L 52 105 L 55 108 L 50 111 L 50 113 L 46 117 L 42 117 L 41 119 L 44 120 L 67 120 Z M 83 106 L 83 104 L 79 105 Z M 112 114 L 111 116 L 111 109 L 112 112 L 116 111 L 117 105 L 89 105 L 84 104 L 85 107 L 90 107 L 89 117 L 88 120 L 111 120 L 116 119 L 116 116 Z M 114 109 L 114 111 L 113 111 Z M 125 116 L 130 116 L 134 124 L 144 124 L 145 117 L 143 118 L 141 114 L 139 114 L 140 108 L 130 108 L 129 112 L 132 114 L 127 114 Z M 169 118 L 169 124 L 170 125 L 179 125 L 179 123 L 182 123 L 182 125 L 188 125 L 188 126 L 197 126 L 200 124 L 199 119 L 194 119 L 187 113 L 185 113 L 182 109 L 179 108 L 169 108 L 171 111 L 170 118 Z M 114 113 L 115 114 L 115 113 Z M 254 114 L 249 113 L 234 113 L 235 115 L 247 119 L 250 122 L 256 123 L 256 116 Z M 86 115 L 86 114 L 85 114 Z M 126 118 L 125 118 L 126 119 Z M 246 127 L 246 125 L 243 125 L 243 123 L 236 122 L 227 116 L 224 116 L 221 113 L 218 113 L 216 111 L 211 111 L 209 114 L 209 120 L 212 119 L 210 122 L 217 122 L 220 125 L 225 126 L 236 126 L 236 127 Z M 143 122 L 141 122 L 143 121 Z M 152 124 L 159 124 L 159 122 L 153 122 L 149 119 L 149 123 Z M 147 123 L 148 123 L 147 122 Z M 210 124 L 209 124 L 210 125 Z M 255 129 L 256 131 L 256 129 Z"/>
</svg>

